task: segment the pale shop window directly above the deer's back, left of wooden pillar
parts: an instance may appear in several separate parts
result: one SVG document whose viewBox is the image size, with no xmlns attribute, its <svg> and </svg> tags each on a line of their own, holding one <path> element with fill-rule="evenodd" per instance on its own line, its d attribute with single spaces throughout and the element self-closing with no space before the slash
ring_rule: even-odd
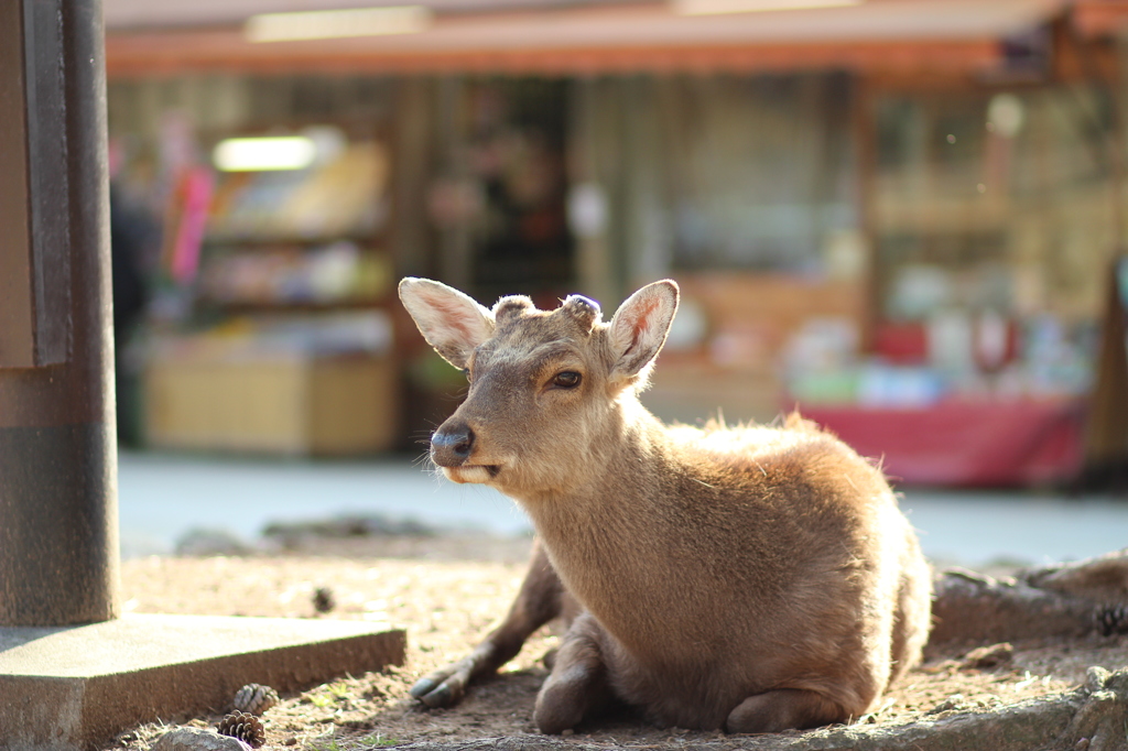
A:
<svg viewBox="0 0 1128 751">
<path fill-rule="evenodd" d="M 679 79 L 666 121 L 672 266 L 821 273 L 856 226 L 845 76 Z"/>
</svg>

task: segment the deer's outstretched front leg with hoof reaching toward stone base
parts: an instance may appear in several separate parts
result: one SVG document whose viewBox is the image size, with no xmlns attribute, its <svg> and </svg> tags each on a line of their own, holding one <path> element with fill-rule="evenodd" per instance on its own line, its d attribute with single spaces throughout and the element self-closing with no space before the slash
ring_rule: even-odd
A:
<svg viewBox="0 0 1128 751">
<path fill-rule="evenodd" d="M 456 704 L 472 681 L 495 672 L 517 656 L 525 640 L 562 615 L 570 599 L 540 541 L 534 542 L 529 571 L 505 619 L 469 655 L 421 678 L 411 688 L 411 695 L 432 708 Z"/>
</svg>

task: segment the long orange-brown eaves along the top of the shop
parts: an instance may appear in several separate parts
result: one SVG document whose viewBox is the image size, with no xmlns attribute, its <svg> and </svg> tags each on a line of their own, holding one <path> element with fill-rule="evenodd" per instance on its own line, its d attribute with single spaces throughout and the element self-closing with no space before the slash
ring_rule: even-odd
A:
<svg viewBox="0 0 1128 751">
<path fill-rule="evenodd" d="M 867 0 L 828 8 L 685 16 L 664 2 L 432 0 L 414 34 L 253 43 L 249 17 L 371 6 L 361 0 L 105 0 L 111 76 L 247 72 L 501 72 L 844 69 L 975 74 L 1004 41 L 1066 14 L 1101 33 L 1128 2 Z"/>
</svg>

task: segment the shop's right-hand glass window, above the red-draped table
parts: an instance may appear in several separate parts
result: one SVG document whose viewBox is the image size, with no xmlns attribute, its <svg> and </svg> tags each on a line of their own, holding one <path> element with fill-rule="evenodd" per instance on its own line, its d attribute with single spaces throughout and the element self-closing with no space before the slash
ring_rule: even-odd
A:
<svg viewBox="0 0 1128 751">
<path fill-rule="evenodd" d="M 1084 391 L 1122 211 L 1107 96 L 887 94 L 875 127 L 878 352 L 969 390 Z"/>
</svg>

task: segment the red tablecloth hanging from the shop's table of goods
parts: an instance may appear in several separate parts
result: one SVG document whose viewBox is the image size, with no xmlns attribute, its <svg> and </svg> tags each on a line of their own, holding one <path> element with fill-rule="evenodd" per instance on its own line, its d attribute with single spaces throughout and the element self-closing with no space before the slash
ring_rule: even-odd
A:
<svg viewBox="0 0 1128 751">
<path fill-rule="evenodd" d="M 1078 400 L 944 401 L 876 409 L 803 407 L 906 485 L 1003 487 L 1052 483 L 1081 468 Z"/>
</svg>

